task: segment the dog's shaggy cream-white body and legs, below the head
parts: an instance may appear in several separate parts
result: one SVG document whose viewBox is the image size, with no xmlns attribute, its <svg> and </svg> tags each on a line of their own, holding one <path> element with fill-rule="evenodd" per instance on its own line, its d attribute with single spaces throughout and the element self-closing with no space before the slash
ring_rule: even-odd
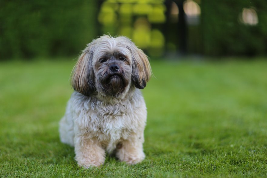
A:
<svg viewBox="0 0 267 178">
<path fill-rule="evenodd" d="M 142 144 L 146 116 L 139 89 L 112 103 L 74 92 L 60 121 L 60 139 L 75 146 L 79 166 L 100 166 L 105 161 L 105 150 L 111 153 L 117 144 L 122 145 L 116 153 L 118 159 L 135 164 L 145 158 Z"/>
</svg>

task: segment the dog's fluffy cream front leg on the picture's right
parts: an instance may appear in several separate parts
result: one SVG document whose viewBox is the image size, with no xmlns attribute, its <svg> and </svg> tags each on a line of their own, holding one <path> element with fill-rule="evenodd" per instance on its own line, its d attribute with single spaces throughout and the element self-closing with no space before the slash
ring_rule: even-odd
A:
<svg viewBox="0 0 267 178">
<path fill-rule="evenodd" d="M 116 156 L 120 161 L 136 164 L 145 159 L 143 152 L 144 134 L 133 133 L 127 140 L 122 140 L 117 146 Z"/>
</svg>

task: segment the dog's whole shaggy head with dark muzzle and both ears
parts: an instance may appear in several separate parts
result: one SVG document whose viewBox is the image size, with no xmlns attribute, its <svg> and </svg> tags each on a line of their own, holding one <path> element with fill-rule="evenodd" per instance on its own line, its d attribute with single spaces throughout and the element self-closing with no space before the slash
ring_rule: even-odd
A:
<svg viewBox="0 0 267 178">
<path fill-rule="evenodd" d="M 72 75 L 72 87 L 86 96 L 120 97 L 131 87 L 143 89 L 151 75 L 147 56 L 126 37 L 104 35 L 83 50 Z"/>
</svg>

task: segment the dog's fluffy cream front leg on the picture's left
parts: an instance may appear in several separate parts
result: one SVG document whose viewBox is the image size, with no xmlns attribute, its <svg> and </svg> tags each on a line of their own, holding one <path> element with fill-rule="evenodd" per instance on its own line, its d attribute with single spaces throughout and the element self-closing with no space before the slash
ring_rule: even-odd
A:
<svg viewBox="0 0 267 178">
<path fill-rule="evenodd" d="M 105 162 L 105 150 L 97 139 L 75 136 L 75 160 L 78 166 L 89 168 Z"/>
</svg>

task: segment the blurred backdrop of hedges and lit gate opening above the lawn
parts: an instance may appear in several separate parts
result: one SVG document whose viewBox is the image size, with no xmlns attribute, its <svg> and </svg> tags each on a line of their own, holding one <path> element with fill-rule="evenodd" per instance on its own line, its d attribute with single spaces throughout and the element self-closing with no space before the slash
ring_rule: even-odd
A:
<svg viewBox="0 0 267 178">
<path fill-rule="evenodd" d="M 263 56 L 267 1 L 0 1 L 0 60 L 77 56 L 107 33 L 151 57 Z"/>
</svg>

